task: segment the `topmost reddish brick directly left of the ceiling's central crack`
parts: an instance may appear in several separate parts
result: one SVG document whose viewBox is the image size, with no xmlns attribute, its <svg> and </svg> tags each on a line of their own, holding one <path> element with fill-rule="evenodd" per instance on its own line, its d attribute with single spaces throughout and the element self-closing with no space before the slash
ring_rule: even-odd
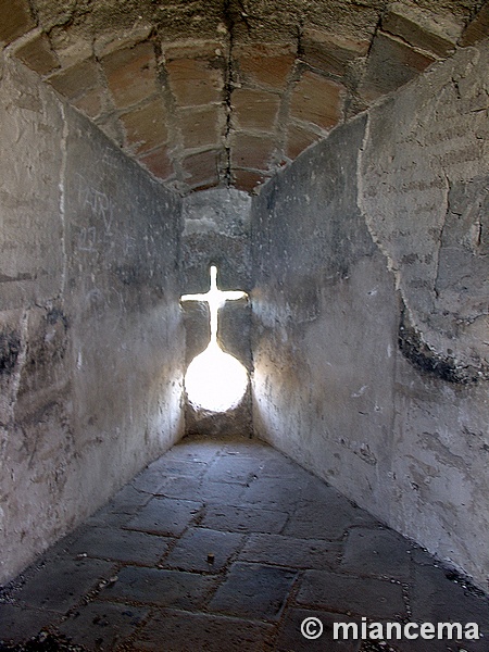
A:
<svg viewBox="0 0 489 652">
<path fill-rule="evenodd" d="M 179 106 L 199 106 L 223 100 L 224 76 L 209 61 L 177 59 L 166 64 L 170 87 Z"/>
</svg>

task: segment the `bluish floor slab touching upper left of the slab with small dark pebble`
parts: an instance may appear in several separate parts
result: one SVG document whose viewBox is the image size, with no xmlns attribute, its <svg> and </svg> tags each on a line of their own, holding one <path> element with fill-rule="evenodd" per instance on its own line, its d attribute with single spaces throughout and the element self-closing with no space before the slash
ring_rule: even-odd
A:
<svg viewBox="0 0 489 652">
<path fill-rule="evenodd" d="M 152 498 L 125 527 L 155 535 L 179 536 L 199 513 L 200 507 L 200 502 Z"/>
</svg>

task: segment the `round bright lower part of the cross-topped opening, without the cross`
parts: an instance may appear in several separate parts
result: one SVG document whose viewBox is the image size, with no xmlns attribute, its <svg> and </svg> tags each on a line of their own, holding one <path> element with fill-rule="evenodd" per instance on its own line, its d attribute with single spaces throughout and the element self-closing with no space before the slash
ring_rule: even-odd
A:
<svg viewBox="0 0 489 652">
<path fill-rule="evenodd" d="M 190 403 L 211 412 L 236 408 L 247 387 L 247 369 L 214 342 L 191 361 L 185 376 Z"/>
</svg>

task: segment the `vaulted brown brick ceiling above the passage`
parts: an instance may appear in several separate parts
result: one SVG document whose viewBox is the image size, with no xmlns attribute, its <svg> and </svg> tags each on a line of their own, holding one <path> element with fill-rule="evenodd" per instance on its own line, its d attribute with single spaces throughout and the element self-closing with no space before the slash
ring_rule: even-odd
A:
<svg viewBox="0 0 489 652">
<path fill-rule="evenodd" d="M 181 193 L 256 191 L 488 33 L 481 0 L 0 0 L 0 41 Z"/>
</svg>

